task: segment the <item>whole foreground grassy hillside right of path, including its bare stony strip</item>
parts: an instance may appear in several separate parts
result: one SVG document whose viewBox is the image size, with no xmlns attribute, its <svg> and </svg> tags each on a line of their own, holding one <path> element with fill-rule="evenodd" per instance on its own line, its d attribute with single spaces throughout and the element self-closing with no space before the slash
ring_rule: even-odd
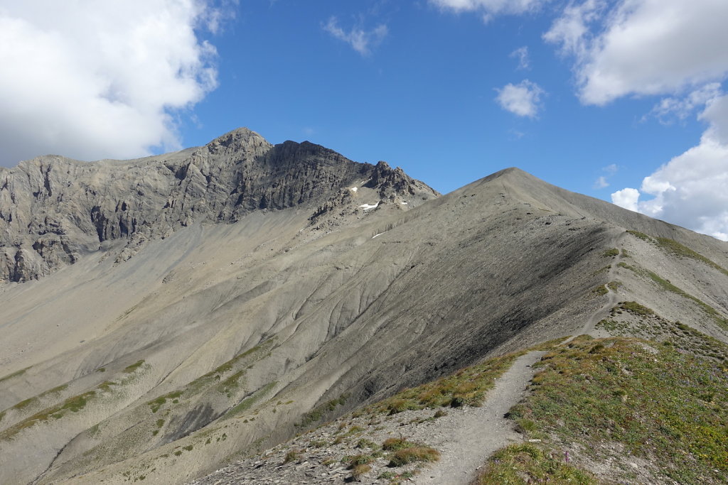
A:
<svg viewBox="0 0 728 485">
<path fill-rule="evenodd" d="M 510 413 L 531 442 L 491 457 L 480 484 L 598 483 L 578 468 L 630 483 L 724 483 L 725 363 L 670 342 L 582 336 L 538 365 Z"/>
</svg>

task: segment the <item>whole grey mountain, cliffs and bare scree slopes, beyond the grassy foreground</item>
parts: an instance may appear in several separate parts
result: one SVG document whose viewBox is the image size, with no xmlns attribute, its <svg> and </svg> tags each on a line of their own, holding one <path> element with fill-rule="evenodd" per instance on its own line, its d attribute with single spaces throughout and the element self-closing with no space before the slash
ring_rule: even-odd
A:
<svg viewBox="0 0 728 485">
<path fill-rule="evenodd" d="M 239 129 L 0 170 L 1 483 L 183 483 L 483 358 L 616 334 L 624 302 L 728 341 L 728 244 L 515 168 L 440 196 Z"/>
</svg>

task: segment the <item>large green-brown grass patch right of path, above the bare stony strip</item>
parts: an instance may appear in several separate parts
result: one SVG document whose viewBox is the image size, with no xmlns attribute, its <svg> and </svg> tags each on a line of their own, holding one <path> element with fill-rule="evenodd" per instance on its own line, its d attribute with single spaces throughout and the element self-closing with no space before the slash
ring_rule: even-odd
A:
<svg viewBox="0 0 728 485">
<path fill-rule="evenodd" d="M 531 395 L 511 409 L 513 419 L 580 444 L 593 460 L 605 460 L 599 444 L 620 443 L 625 452 L 614 460 L 633 454 L 659 464 L 650 470 L 655 481 L 724 483 L 728 373 L 714 361 L 671 345 L 610 338 L 574 340 L 540 366 Z"/>
</svg>

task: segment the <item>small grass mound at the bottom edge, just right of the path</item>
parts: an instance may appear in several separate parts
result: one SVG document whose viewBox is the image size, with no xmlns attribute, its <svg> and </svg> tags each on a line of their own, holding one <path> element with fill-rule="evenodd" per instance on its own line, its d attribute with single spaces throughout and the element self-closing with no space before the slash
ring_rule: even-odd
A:
<svg viewBox="0 0 728 485">
<path fill-rule="evenodd" d="M 591 485 L 591 473 L 569 465 L 563 457 L 531 443 L 512 444 L 495 452 L 475 481 L 477 485 Z"/>
</svg>

